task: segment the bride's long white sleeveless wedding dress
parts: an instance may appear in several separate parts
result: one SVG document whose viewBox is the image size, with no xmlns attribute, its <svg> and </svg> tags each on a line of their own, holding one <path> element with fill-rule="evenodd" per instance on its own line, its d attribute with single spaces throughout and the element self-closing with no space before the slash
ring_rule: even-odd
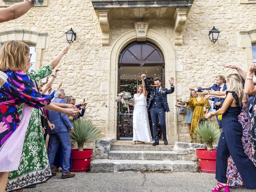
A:
<svg viewBox="0 0 256 192">
<path fill-rule="evenodd" d="M 152 142 L 148 122 L 147 97 L 134 94 L 133 139 L 132 141 Z"/>
</svg>

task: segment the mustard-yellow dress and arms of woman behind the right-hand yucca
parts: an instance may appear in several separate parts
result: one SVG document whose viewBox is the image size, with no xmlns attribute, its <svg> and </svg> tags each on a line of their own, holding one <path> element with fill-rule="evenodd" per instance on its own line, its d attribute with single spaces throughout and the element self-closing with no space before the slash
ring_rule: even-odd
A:
<svg viewBox="0 0 256 192">
<path fill-rule="evenodd" d="M 177 100 L 180 102 L 184 102 L 190 106 L 193 112 L 191 128 L 190 128 L 190 135 L 194 133 L 196 130 L 200 120 L 204 118 L 204 115 L 208 113 L 209 109 L 211 108 L 208 99 L 204 99 L 203 96 L 196 96 L 192 97 L 187 101 Z M 204 107 L 206 108 L 206 112 L 204 112 Z"/>
</svg>

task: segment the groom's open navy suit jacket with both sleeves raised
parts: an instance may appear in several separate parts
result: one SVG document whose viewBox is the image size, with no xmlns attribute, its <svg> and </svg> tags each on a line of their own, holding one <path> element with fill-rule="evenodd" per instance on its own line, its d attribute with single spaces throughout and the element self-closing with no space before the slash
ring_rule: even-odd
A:
<svg viewBox="0 0 256 192">
<path fill-rule="evenodd" d="M 148 84 L 147 80 L 146 79 L 144 79 L 144 80 L 145 80 L 145 85 L 146 85 L 147 91 L 151 92 L 150 93 L 150 98 L 149 98 L 149 101 L 148 101 L 148 109 L 150 109 L 152 100 L 156 95 L 156 90 L 157 89 L 156 89 L 156 87 L 151 88 L 150 85 Z M 169 109 L 168 102 L 167 102 L 167 94 L 171 94 L 171 93 L 174 92 L 174 86 L 173 87 L 171 86 L 170 89 L 162 88 L 161 91 L 165 91 L 163 94 L 161 94 L 162 102 L 163 102 L 163 105 L 164 105 L 164 111 L 169 112 L 170 109 Z"/>
</svg>

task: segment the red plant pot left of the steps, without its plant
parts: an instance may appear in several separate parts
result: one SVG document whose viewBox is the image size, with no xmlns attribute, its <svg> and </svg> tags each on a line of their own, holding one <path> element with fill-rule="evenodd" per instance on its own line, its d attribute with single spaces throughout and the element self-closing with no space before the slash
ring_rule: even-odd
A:
<svg viewBox="0 0 256 192">
<path fill-rule="evenodd" d="M 84 149 L 83 151 L 78 151 L 78 149 L 72 149 L 72 167 L 69 170 L 71 172 L 84 172 L 90 170 L 92 152 L 92 149 Z"/>
</svg>

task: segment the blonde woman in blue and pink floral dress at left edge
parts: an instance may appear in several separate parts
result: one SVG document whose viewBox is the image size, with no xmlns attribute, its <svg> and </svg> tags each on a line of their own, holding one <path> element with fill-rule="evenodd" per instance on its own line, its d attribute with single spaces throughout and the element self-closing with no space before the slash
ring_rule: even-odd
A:
<svg viewBox="0 0 256 192">
<path fill-rule="evenodd" d="M 50 104 L 51 97 L 40 94 L 24 72 L 29 68 L 29 46 L 18 41 L 6 42 L 0 50 L 0 70 L 8 76 L 0 89 L 0 191 L 6 188 L 8 174 L 17 170 L 31 109 L 45 107 L 66 114 L 74 109 L 64 109 Z M 22 120 L 17 107 L 24 104 Z M 27 112 L 27 113 L 25 113 Z M 22 126 L 19 126 L 21 125 Z M 22 133 L 22 134 L 17 134 Z"/>
</svg>

